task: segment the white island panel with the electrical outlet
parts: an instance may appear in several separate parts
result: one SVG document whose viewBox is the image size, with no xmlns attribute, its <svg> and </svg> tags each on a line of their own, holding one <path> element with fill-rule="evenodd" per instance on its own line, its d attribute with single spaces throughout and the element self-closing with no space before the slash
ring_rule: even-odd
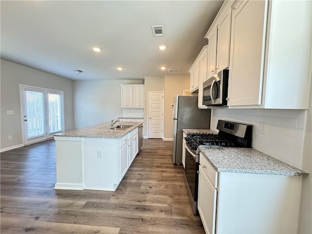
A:
<svg viewBox="0 0 312 234">
<path fill-rule="evenodd" d="M 115 191 L 119 184 L 118 139 L 84 138 L 84 189 Z"/>
</svg>

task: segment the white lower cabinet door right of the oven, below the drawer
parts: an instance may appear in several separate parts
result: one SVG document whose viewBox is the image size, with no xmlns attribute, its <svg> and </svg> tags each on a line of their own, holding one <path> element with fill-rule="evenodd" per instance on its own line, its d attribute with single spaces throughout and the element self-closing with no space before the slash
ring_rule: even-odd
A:
<svg viewBox="0 0 312 234">
<path fill-rule="evenodd" d="M 206 233 L 215 234 L 217 190 L 199 166 L 198 212 Z"/>
</svg>

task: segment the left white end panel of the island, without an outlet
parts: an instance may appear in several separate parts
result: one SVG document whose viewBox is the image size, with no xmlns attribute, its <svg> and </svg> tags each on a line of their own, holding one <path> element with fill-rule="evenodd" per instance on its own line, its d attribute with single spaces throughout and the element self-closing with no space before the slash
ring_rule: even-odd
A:
<svg viewBox="0 0 312 234">
<path fill-rule="evenodd" d="M 83 139 L 55 137 L 57 182 L 54 189 L 83 190 Z"/>
</svg>

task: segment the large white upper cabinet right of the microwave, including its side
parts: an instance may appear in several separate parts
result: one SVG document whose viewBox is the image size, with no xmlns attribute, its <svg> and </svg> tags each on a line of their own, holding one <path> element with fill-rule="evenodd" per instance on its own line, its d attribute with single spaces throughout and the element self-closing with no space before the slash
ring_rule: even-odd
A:
<svg viewBox="0 0 312 234">
<path fill-rule="evenodd" d="M 308 109 L 311 4 L 232 3 L 229 108 Z"/>
</svg>

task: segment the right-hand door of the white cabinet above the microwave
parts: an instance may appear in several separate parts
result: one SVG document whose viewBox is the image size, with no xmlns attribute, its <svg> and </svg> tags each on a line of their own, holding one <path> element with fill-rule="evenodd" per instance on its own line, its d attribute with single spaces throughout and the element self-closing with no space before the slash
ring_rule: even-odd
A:
<svg viewBox="0 0 312 234">
<path fill-rule="evenodd" d="M 230 65 L 231 12 L 230 8 L 218 25 L 216 72 L 226 69 Z"/>
</svg>

